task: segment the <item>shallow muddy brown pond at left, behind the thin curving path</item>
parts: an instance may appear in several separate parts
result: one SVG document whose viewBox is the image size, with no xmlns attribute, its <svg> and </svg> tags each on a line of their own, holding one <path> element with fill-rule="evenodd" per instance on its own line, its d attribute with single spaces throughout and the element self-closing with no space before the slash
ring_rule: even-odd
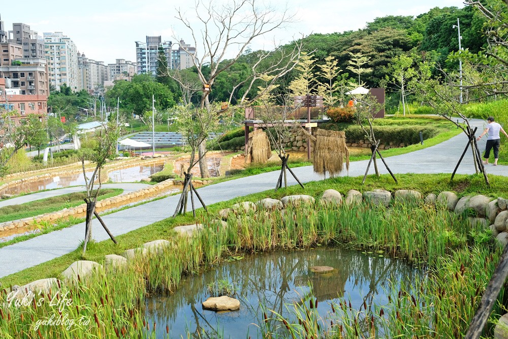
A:
<svg viewBox="0 0 508 339">
<path fill-rule="evenodd" d="M 133 182 L 140 181 L 143 178 L 147 178 L 153 173 L 162 171 L 164 164 L 151 164 L 143 166 L 134 166 L 124 168 L 109 173 L 109 178 L 113 182 Z M 87 176 L 92 175 L 92 172 L 87 172 Z M 18 195 L 27 192 L 37 192 L 42 190 L 52 190 L 65 188 L 70 186 L 84 186 L 85 178 L 83 173 L 69 174 L 65 176 L 54 176 L 37 181 L 23 182 L 16 186 L 9 187 L 5 190 L 0 191 L 2 194 Z"/>
</svg>

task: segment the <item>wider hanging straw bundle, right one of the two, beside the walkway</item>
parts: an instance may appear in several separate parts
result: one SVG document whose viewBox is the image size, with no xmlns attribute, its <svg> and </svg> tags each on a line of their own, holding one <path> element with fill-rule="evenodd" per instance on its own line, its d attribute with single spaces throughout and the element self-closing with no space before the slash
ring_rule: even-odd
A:
<svg viewBox="0 0 508 339">
<path fill-rule="evenodd" d="M 315 132 L 314 172 L 330 176 L 339 174 L 344 168 L 349 170 L 349 150 L 345 133 L 341 131 L 317 130 Z"/>
</svg>

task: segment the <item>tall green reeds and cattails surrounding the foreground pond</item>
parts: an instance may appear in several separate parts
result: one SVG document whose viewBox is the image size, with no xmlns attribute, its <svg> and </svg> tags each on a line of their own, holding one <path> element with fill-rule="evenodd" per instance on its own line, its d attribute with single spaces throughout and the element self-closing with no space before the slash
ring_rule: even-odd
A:
<svg viewBox="0 0 508 339">
<path fill-rule="evenodd" d="M 470 226 L 466 218 L 443 208 L 416 202 L 386 208 L 302 204 L 282 211 L 231 213 L 227 225 L 214 215 L 200 218 L 200 232 L 172 235 L 166 249 L 140 256 L 125 267 L 100 271 L 78 284 L 62 283 L 59 294 L 71 296 L 63 311 L 48 302 L 10 307 L 4 290 L 0 333 L 8 338 L 154 337 L 155 324 L 144 318 L 144 300 L 154 293 L 171 293 L 185 275 L 214 267 L 232 255 L 343 245 L 406 258 L 425 265 L 427 274 L 406 286 L 394 282 L 387 303 L 364 302 L 359 310 L 344 301 L 331 304 L 330 314 L 324 317 L 317 313 L 311 294 L 287 305 L 292 314 L 288 319 L 264 310 L 258 324 L 263 337 L 460 337 L 501 253 L 489 230 Z M 57 295 L 56 288 L 50 295 Z M 503 298 L 504 290 L 491 319 L 501 313 Z M 73 326 L 72 331 L 33 325 L 66 315 L 89 322 Z"/>
</svg>

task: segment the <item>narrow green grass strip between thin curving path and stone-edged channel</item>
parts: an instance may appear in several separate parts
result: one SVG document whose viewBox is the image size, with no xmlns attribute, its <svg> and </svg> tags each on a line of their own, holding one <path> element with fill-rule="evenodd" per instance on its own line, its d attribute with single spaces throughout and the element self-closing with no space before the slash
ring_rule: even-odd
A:
<svg viewBox="0 0 508 339">
<path fill-rule="evenodd" d="M 122 192 L 122 189 L 104 189 L 101 190 L 98 200 L 111 198 Z M 63 208 L 76 207 L 83 203 L 85 197 L 85 192 L 69 193 L 20 205 L 5 206 L 0 208 L 0 223 L 36 217 L 37 215 L 59 211 Z"/>
</svg>

